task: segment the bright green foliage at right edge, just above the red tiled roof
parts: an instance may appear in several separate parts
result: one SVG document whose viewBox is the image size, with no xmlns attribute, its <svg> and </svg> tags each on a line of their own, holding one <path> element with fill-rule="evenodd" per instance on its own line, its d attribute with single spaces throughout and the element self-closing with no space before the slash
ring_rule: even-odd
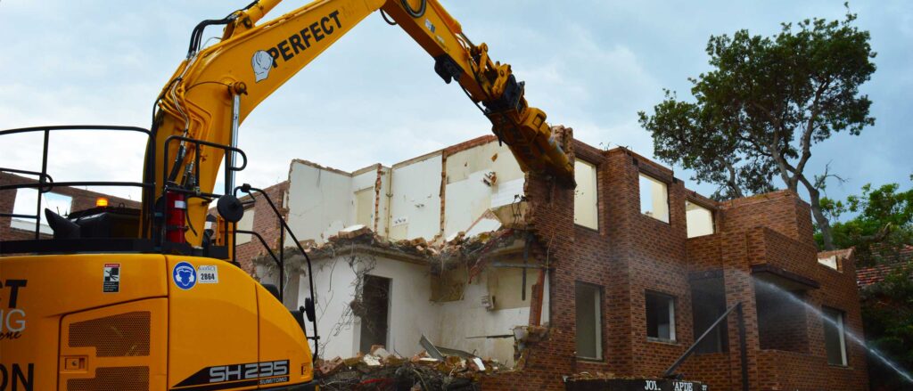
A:
<svg viewBox="0 0 913 391">
<path fill-rule="evenodd" d="M 869 265 L 890 261 L 902 246 L 913 245 L 913 187 L 899 189 L 897 183 L 879 188 L 866 184 L 862 194 L 851 195 L 845 201 L 822 199 L 822 210 L 834 220 L 846 212 L 855 213 L 854 218 L 832 225 L 834 246 L 855 247 L 857 262 Z M 815 233 L 815 241 L 819 248 L 823 246 L 821 232 Z"/>
</svg>

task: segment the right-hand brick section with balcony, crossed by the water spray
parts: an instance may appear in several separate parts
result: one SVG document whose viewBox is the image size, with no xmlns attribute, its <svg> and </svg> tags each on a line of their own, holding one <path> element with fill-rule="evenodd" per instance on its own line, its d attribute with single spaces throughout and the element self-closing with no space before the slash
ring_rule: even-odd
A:
<svg viewBox="0 0 913 391">
<path fill-rule="evenodd" d="M 798 293 L 803 301 L 815 309 L 826 305 L 845 311 L 847 330 L 861 333 L 853 262 L 842 259 L 841 272 L 817 262 L 808 204 L 790 191 L 776 191 L 720 202 L 716 212 L 719 231 L 687 241 L 689 272 L 722 270 L 727 304 L 743 304 L 750 388 L 866 389 L 862 347 L 847 340 L 849 365 L 827 365 L 820 318 L 782 297 L 765 298 L 764 293 L 759 297 L 751 281 L 751 267 L 765 265 L 818 283 L 817 289 Z M 761 322 L 759 310 L 766 316 Z M 682 372 L 708 382 L 711 389 L 735 388 L 740 385 L 738 344 L 735 320 L 730 317 L 729 365 L 719 365 L 719 355 L 696 355 Z M 721 380 L 726 375 L 729 382 Z"/>
</svg>

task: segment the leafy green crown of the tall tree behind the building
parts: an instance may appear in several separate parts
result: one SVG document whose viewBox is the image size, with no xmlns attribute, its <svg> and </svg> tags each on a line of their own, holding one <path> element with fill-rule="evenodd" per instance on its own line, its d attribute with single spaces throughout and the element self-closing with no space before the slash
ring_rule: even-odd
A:
<svg viewBox="0 0 913 391">
<path fill-rule="evenodd" d="M 806 19 L 772 37 L 711 36 L 714 70 L 689 79 L 694 101 L 666 91 L 653 115 L 638 113 L 656 157 L 719 184 L 718 199 L 771 190 L 778 174 L 796 190 L 814 143 L 875 122 L 859 86 L 875 72 L 876 53 L 854 20 Z"/>
</svg>

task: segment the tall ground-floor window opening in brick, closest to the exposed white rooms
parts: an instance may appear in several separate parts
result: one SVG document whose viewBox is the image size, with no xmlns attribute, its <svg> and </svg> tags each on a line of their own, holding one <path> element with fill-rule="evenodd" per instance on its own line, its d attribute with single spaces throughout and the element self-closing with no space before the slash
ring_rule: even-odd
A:
<svg viewBox="0 0 913 391">
<path fill-rule="evenodd" d="M 577 356 L 603 359 L 603 288 L 577 282 L 574 286 L 577 306 Z"/>
</svg>

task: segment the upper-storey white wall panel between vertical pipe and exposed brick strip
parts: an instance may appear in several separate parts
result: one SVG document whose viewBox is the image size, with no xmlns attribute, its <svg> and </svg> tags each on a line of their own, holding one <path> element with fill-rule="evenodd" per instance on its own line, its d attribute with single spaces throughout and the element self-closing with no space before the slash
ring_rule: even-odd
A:
<svg viewBox="0 0 913 391">
<path fill-rule="evenodd" d="M 425 238 L 440 232 L 441 153 L 394 166 L 390 205 L 390 238 Z"/>
</svg>

